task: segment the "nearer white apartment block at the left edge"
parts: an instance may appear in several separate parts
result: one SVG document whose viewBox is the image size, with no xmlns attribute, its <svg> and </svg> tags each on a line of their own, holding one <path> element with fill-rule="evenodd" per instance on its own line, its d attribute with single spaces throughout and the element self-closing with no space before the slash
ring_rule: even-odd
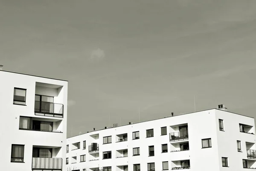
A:
<svg viewBox="0 0 256 171">
<path fill-rule="evenodd" d="M 0 70 L 3 171 L 66 171 L 67 81 Z"/>
</svg>

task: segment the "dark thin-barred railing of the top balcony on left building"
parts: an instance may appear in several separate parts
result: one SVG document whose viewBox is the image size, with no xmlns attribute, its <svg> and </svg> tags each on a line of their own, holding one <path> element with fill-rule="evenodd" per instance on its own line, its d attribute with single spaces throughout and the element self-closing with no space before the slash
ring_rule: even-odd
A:
<svg viewBox="0 0 256 171">
<path fill-rule="evenodd" d="M 35 101 L 35 115 L 63 118 L 63 104 Z"/>
</svg>

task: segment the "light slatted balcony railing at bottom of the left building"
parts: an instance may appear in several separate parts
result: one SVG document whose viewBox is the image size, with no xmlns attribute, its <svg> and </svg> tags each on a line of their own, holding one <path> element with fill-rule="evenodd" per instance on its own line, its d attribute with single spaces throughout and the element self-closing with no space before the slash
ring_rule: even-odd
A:
<svg viewBox="0 0 256 171">
<path fill-rule="evenodd" d="M 33 157 L 32 158 L 32 170 L 38 169 L 62 169 L 62 158 L 43 158 L 43 157 Z"/>
</svg>

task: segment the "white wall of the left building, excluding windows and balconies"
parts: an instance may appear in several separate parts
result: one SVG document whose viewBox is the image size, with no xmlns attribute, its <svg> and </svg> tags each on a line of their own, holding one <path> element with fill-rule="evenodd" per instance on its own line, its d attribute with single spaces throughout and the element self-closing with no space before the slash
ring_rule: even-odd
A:
<svg viewBox="0 0 256 171">
<path fill-rule="evenodd" d="M 49 78 L 23 75 L 12 72 L 0 71 L 0 145 L 2 147 L 0 161 L 1 169 L 6 171 L 29 171 L 32 170 L 32 147 L 55 146 L 58 150 L 53 150 L 53 156 L 63 158 L 63 171 L 66 170 L 66 134 L 67 134 L 67 81 L 60 81 Z M 62 104 L 64 104 L 64 117 L 53 118 L 46 116 L 35 116 L 35 93 L 47 95 L 48 90 L 58 94 L 58 90 L 52 91 L 46 87 L 40 87 L 35 91 L 36 82 L 55 84 L 62 86 Z M 14 87 L 26 89 L 26 106 L 13 104 Z M 50 94 L 51 94 L 50 93 Z M 58 96 L 59 97 L 59 96 Z M 53 119 L 61 121 L 57 130 L 63 133 L 42 132 L 32 130 L 19 130 L 20 116 Z M 55 126 L 54 126 L 55 127 Z M 12 144 L 25 145 L 24 163 L 11 162 Z"/>
</svg>

